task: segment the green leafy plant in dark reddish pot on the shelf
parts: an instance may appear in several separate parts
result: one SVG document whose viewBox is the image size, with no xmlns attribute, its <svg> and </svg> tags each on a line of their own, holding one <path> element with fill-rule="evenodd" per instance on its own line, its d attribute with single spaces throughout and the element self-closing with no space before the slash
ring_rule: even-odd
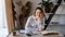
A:
<svg viewBox="0 0 65 37">
<path fill-rule="evenodd" d="M 41 4 L 41 8 L 44 7 L 46 13 L 50 13 L 51 8 L 53 7 L 53 3 L 50 2 L 50 0 L 48 0 L 48 1 L 42 0 L 42 2 L 40 2 L 39 4 Z"/>
</svg>

